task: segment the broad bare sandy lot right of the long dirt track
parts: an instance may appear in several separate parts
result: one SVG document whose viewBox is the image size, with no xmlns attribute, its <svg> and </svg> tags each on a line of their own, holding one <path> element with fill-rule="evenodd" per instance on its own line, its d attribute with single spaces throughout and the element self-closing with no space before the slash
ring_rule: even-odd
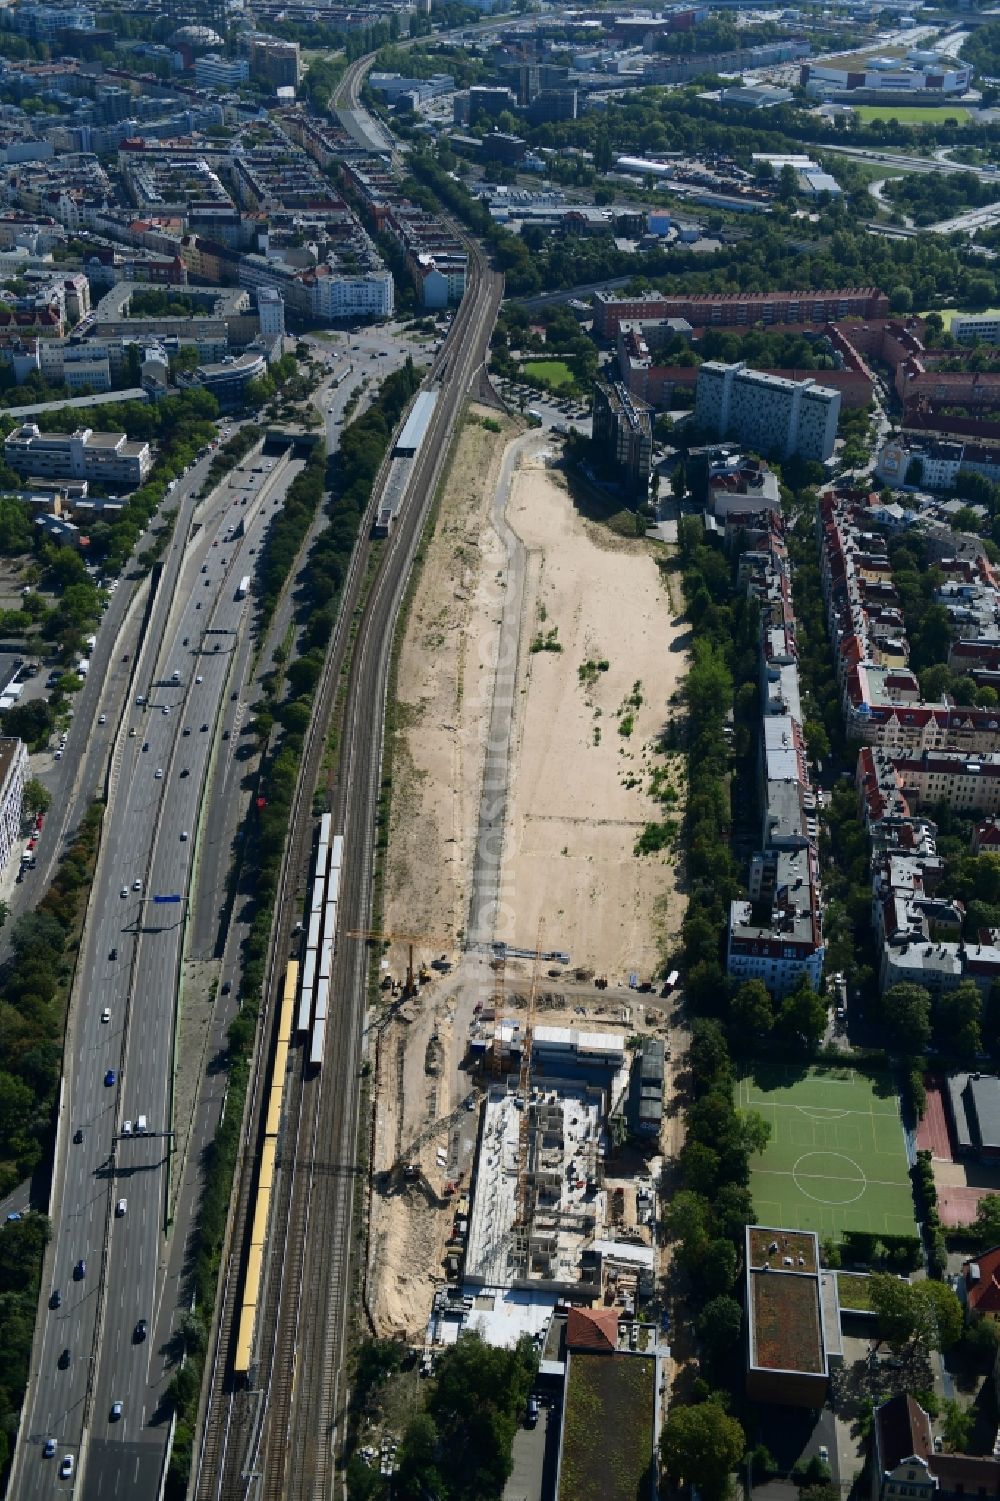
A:
<svg viewBox="0 0 1000 1501">
<path fill-rule="evenodd" d="M 506 937 L 533 947 L 544 919 L 544 947 L 574 965 L 646 977 L 680 920 L 673 856 L 634 847 L 664 818 L 649 790 L 685 671 L 671 650 L 683 627 L 652 546 L 583 519 L 544 462 L 515 476 L 508 521 L 529 548 L 532 638 L 560 650 L 529 645 L 520 659 L 503 857 L 517 931 Z"/>
</svg>

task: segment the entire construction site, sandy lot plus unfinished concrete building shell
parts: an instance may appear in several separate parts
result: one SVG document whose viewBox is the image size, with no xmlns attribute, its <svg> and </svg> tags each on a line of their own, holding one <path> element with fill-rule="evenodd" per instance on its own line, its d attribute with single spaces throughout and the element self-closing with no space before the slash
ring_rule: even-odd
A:
<svg viewBox="0 0 1000 1501">
<path fill-rule="evenodd" d="M 375 1333 L 428 1363 L 462 1328 L 541 1346 L 566 1303 L 614 1309 L 628 1348 L 662 1270 L 661 1154 L 679 1147 L 676 995 L 649 977 L 682 907 L 670 851 L 634 844 L 661 817 L 685 627 L 653 545 L 584 521 L 544 441 L 500 426 L 464 429 L 410 605 L 386 928 L 357 935 L 380 946 L 384 986 L 366 1301 Z M 539 620 L 562 621 L 565 648 L 536 650 Z M 578 672 L 590 657 L 601 668 Z M 485 860 L 505 663 L 506 808 Z M 626 701 L 628 735 L 611 729 Z"/>
</svg>

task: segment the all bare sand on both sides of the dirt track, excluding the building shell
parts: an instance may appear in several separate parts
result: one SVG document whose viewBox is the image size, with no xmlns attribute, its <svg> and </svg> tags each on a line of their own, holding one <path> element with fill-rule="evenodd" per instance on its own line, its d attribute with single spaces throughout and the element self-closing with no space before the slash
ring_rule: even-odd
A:
<svg viewBox="0 0 1000 1501">
<path fill-rule="evenodd" d="M 375 1054 L 369 1304 L 380 1333 L 408 1339 L 422 1336 L 443 1280 L 453 1216 L 446 1186 L 461 1192 L 471 1168 L 477 1117 L 461 1108 L 473 1087 L 462 1055 L 473 1000 L 491 985 L 485 958 L 459 958 L 459 949 L 503 609 L 506 554 L 489 504 L 518 429 L 505 423 L 492 434 L 479 422 L 485 414 L 471 410 L 455 452 L 396 687 L 384 928 L 425 935 L 423 959 L 449 952 L 458 961 L 380 1031 Z M 553 456 L 550 449 L 526 461 L 508 506 L 529 563 L 502 862 L 512 931 L 498 937 L 533 947 L 541 929 L 545 949 L 569 952 L 566 994 L 544 980 L 547 1021 L 580 1025 L 583 1012 L 587 1025 L 620 1030 L 623 1006 L 637 998 L 614 988 L 629 971 L 653 974 L 683 910 L 676 857 L 637 857 L 634 845 L 647 821 L 665 817 L 650 778 L 668 766 L 658 738 L 685 671 L 685 627 L 658 548 L 584 519 Z M 562 650 L 532 651 L 539 633 Z M 607 668 L 581 675 L 589 660 Z M 626 735 L 619 728 L 628 714 Z M 670 776 L 682 802 L 679 763 Z M 389 949 L 387 965 L 402 974 L 402 944 Z M 508 968 L 514 1010 L 532 967 Z M 574 970 L 607 976 L 610 989 L 572 982 Z M 402 1162 L 419 1163 L 416 1181 L 402 1181 Z"/>
</svg>

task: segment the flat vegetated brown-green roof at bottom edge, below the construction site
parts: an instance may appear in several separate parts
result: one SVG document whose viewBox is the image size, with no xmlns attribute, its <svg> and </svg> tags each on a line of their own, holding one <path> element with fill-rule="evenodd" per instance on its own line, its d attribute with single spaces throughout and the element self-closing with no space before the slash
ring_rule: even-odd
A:
<svg viewBox="0 0 1000 1501">
<path fill-rule="evenodd" d="M 650 1493 L 656 1366 L 638 1355 L 574 1355 L 560 1495 L 635 1501 Z"/>
</svg>

